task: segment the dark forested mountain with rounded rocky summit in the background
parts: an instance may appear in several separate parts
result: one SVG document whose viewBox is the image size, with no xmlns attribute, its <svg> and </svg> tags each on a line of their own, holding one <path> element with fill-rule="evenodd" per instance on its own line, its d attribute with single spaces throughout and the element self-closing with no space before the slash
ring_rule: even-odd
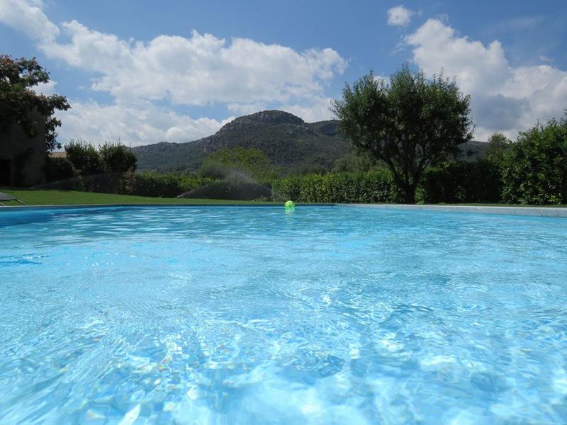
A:
<svg viewBox="0 0 567 425">
<path fill-rule="evenodd" d="M 483 142 L 468 142 L 463 159 L 475 159 Z M 223 147 L 259 149 L 272 164 L 290 171 L 332 169 L 340 157 L 351 153 L 339 132 L 339 121 L 305 123 L 283 111 L 262 111 L 235 118 L 209 137 L 186 143 L 160 142 L 134 147 L 138 169 L 154 171 L 196 170 L 212 152 Z"/>
</svg>

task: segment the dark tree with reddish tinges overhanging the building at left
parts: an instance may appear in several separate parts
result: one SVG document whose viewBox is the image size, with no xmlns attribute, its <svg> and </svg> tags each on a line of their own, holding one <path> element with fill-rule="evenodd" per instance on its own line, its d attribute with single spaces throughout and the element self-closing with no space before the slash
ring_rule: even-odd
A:
<svg viewBox="0 0 567 425">
<path fill-rule="evenodd" d="M 61 147 L 57 142 L 57 127 L 61 121 L 53 116 L 55 111 L 70 108 L 67 98 L 37 94 L 32 87 L 50 81 L 49 73 L 35 59 L 12 59 L 0 55 L 0 132 L 16 123 L 28 137 L 38 135 L 38 123 L 33 111 L 45 117 L 45 142 L 47 152 Z"/>
</svg>

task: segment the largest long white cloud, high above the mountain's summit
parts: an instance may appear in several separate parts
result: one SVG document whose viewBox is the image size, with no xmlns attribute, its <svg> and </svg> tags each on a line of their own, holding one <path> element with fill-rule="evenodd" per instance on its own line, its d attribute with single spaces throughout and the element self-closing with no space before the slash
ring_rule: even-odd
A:
<svg viewBox="0 0 567 425">
<path fill-rule="evenodd" d="M 296 52 L 281 45 L 233 38 L 230 43 L 193 31 L 191 37 L 160 35 L 150 42 L 120 40 L 72 21 L 62 25 L 69 42 L 43 43 L 49 57 L 99 74 L 91 89 L 121 101 L 167 100 L 205 105 L 308 98 L 342 73 L 335 50 Z"/>
</svg>

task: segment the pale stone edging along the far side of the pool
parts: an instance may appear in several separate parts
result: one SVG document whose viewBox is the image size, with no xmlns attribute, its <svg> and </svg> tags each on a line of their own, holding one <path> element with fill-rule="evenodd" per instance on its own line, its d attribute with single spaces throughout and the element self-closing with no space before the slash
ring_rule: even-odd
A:
<svg viewBox="0 0 567 425">
<path fill-rule="evenodd" d="M 522 206 L 481 206 L 481 205 L 406 205 L 406 204 L 332 204 L 332 203 L 313 203 L 313 204 L 297 204 L 301 206 L 313 207 L 337 207 L 337 208 L 387 208 L 392 210 L 429 210 L 442 212 L 478 212 L 483 214 L 503 214 L 503 215 L 531 215 L 536 217 L 563 217 L 567 218 L 567 208 L 564 207 L 522 207 Z M 136 208 L 136 207 L 152 207 L 152 208 L 168 208 L 168 207 L 184 207 L 184 208 L 210 208 L 210 207 L 254 207 L 254 208 L 280 208 L 278 204 L 262 204 L 262 203 L 235 203 L 235 204 L 92 204 L 92 205 L 6 205 L 0 207 L 0 211 L 15 210 L 55 210 L 55 209 L 81 209 L 81 208 Z M 283 203 L 281 205 L 283 208 Z"/>
</svg>

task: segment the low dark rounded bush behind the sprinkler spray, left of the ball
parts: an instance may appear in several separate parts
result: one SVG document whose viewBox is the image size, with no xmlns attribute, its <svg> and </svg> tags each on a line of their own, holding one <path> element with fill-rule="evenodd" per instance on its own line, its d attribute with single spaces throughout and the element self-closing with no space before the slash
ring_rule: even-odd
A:
<svg viewBox="0 0 567 425">
<path fill-rule="evenodd" d="M 196 188 L 180 196 L 180 198 L 269 200 L 271 199 L 271 190 L 267 186 L 250 181 L 223 180 L 213 181 Z"/>
</svg>

